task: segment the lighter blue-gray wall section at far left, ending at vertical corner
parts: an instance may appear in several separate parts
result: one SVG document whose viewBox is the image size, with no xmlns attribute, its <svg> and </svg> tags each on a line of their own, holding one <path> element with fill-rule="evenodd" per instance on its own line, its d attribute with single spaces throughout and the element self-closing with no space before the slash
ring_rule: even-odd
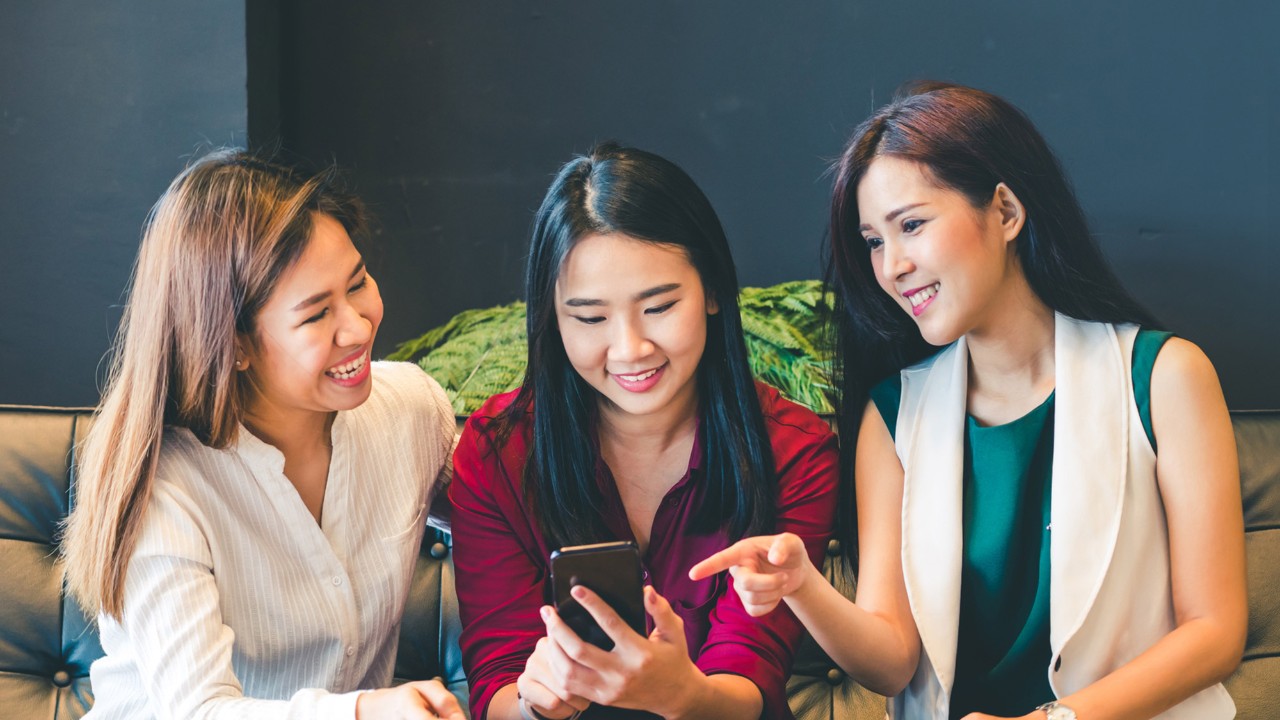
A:
<svg viewBox="0 0 1280 720">
<path fill-rule="evenodd" d="M 244 6 L 0 10 L 0 402 L 93 405 L 151 204 L 243 143 Z"/>
</svg>

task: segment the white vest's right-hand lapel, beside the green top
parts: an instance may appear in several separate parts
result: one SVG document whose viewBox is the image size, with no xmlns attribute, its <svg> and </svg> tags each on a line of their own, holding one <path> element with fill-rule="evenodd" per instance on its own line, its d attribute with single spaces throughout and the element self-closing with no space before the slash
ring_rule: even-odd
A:
<svg viewBox="0 0 1280 720">
<path fill-rule="evenodd" d="M 1057 655 L 1084 623 L 1115 551 L 1133 393 L 1112 325 L 1057 315 L 1055 343 L 1050 643 Z"/>
</svg>

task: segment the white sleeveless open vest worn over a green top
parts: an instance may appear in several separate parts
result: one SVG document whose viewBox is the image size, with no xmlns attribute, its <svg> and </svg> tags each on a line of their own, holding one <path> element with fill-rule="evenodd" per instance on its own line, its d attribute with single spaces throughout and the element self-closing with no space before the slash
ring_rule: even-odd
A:
<svg viewBox="0 0 1280 720">
<path fill-rule="evenodd" d="M 1175 626 L 1169 527 L 1156 454 L 1133 395 L 1138 328 L 1055 318 L 1048 682 L 1065 697 L 1133 660 Z M 902 571 L 923 652 L 890 702 L 899 720 L 946 720 L 960 628 L 969 351 L 961 337 L 902 370 L 895 446 L 905 471 Z M 1030 710 L 1030 708 L 1027 708 Z M 1226 720 L 1216 684 L 1161 720 Z"/>
</svg>

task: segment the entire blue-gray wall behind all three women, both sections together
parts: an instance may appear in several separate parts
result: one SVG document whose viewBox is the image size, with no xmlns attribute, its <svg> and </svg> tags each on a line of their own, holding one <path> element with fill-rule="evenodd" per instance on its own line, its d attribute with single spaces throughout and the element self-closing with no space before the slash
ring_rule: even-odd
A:
<svg viewBox="0 0 1280 720">
<path fill-rule="evenodd" d="M 6 4 L 0 402 L 96 401 L 147 208 L 250 124 L 353 169 L 381 219 L 385 352 L 516 297 L 547 182 L 603 138 L 703 184 L 745 283 L 814 277 L 827 160 L 895 86 L 932 77 L 1023 106 L 1230 405 L 1280 406 L 1261 300 L 1280 266 L 1280 8 L 1079 5 L 250 0 L 246 27 L 239 4 Z"/>
</svg>

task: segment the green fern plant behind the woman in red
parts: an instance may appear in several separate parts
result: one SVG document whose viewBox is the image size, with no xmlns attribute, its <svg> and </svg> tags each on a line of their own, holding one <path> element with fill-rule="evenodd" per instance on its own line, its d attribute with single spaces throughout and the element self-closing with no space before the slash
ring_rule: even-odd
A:
<svg viewBox="0 0 1280 720">
<path fill-rule="evenodd" d="M 739 296 L 751 372 L 817 413 L 831 413 L 831 297 L 817 281 L 748 287 Z M 416 361 L 449 396 L 458 415 L 507 392 L 525 377 L 525 304 L 465 310 L 421 337 L 401 343 L 388 360 Z"/>
</svg>

